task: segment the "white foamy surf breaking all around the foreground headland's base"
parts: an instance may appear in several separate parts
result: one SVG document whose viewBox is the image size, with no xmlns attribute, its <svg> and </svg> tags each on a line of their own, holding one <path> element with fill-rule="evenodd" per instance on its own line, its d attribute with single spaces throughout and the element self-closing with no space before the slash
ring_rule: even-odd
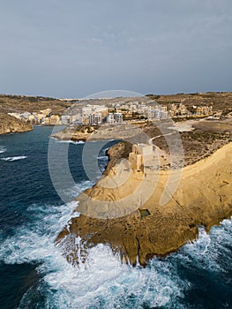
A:
<svg viewBox="0 0 232 309">
<path fill-rule="evenodd" d="M 82 183 L 76 189 L 83 191 L 89 185 Z M 184 290 L 190 289 L 190 283 L 179 277 L 177 266 L 200 260 L 204 268 L 219 270 L 216 256 L 222 249 L 218 241 L 223 243 L 232 232 L 229 220 L 213 228 L 211 236 L 200 229 L 196 242 L 167 259 L 153 259 L 147 268 L 121 264 L 108 246 L 97 245 L 89 250 L 86 262 L 74 268 L 54 241 L 66 222 L 78 215 L 73 214 L 76 206 L 75 202 L 62 206 L 32 205 L 27 208 L 32 221 L 0 244 L 0 260 L 7 264 L 40 264 L 37 271 L 43 280 L 37 289 L 46 295 L 47 308 L 175 308 L 176 299 L 183 298 Z M 79 241 L 78 238 L 77 244 Z M 34 290 L 26 292 L 19 308 L 26 307 L 31 293 Z"/>
</svg>

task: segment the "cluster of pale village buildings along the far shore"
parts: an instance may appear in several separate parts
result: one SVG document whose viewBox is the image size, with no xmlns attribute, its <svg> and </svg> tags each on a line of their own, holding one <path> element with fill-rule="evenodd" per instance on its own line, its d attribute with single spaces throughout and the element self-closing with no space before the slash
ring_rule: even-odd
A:
<svg viewBox="0 0 232 309">
<path fill-rule="evenodd" d="M 8 115 L 31 124 L 56 125 L 56 124 L 122 124 L 123 122 L 133 121 L 153 121 L 157 119 L 173 118 L 192 118 L 192 117 L 209 117 L 213 116 L 213 107 L 202 105 L 192 105 L 187 109 L 183 103 L 172 103 L 168 106 L 149 105 L 146 102 L 131 101 L 122 103 L 109 103 L 106 105 L 86 104 L 74 106 L 64 112 L 64 115 L 56 114 L 52 109 L 41 109 L 39 111 L 29 112 L 9 112 Z"/>
</svg>

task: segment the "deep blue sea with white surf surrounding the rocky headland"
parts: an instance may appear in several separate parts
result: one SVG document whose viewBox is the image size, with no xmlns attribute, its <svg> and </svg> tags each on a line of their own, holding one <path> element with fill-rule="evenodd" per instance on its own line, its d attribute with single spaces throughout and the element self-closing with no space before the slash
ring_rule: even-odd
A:
<svg viewBox="0 0 232 309">
<path fill-rule="evenodd" d="M 232 222 L 146 268 L 122 265 L 108 246 L 73 268 L 54 241 L 71 219 L 49 177 L 51 127 L 0 136 L 0 308 L 232 308 Z M 59 143 L 59 141 L 57 141 Z M 62 142 L 61 142 L 62 143 Z M 111 142 L 112 144 L 113 142 Z M 105 146 L 109 147 L 109 145 Z M 93 185 L 83 169 L 84 144 L 69 145 L 74 199 Z M 100 170 L 107 158 L 102 148 Z"/>
</svg>

